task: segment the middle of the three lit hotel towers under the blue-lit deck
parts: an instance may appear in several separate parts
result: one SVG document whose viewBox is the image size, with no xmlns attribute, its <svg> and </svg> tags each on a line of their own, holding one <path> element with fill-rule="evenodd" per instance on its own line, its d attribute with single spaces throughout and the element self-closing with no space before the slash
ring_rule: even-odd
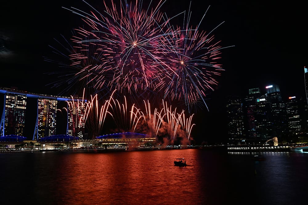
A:
<svg viewBox="0 0 308 205">
<path fill-rule="evenodd" d="M 40 140 L 42 137 L 56 134 L 56 110 L 58 101 L 39 97 L 37 102 L 38 115 L 35 140 Z"/>
</svg>

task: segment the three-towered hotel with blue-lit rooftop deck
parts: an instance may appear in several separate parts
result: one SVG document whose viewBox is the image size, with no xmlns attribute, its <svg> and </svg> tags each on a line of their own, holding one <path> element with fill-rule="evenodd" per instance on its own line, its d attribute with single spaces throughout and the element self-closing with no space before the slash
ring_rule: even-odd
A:
<svg viewBox="0 0 308 205">
<path fill-rule="evenodd" d="M 81 98 L 57 97 L 39 95 L 19 91 L 15 89 L 0 88 L 3 97 L 3 111 L 1 115 L 1 137 L 18 136 L 27 140 L 40 140 L 44 137 L 56 135 L 57 112 L 65 111 L 66 135 L 82 140 L 84 138 L 85 125 L 83 123 L 84 107 Z M 1 98 L 0 98 L 1 99 Z M 36 110 L 31 107 L 31 112 L 36 116 L 36 121 L 32 123 L 33 135 L 25 136 L 26 110 L 28 100 L 36 103 Z M 57 108 L 59 102 L 64 102 L 64 109 Z M 70 106 L 67 102 L 70 102 Z M 78 103 L 80 103 L 78 105 Z M 2 103 L 0 104 L 0 106 Z M 0 107 L 1 108 L 1 107 Z M 32 110 L 33 109 L 33 110 Z M 36 113 L 36 114 L 35 114 Z M 63 113 L 61 113 L 63 115 Z M 66 121 L 67 120 L 67 121 Z M 78 123 L 76 123 L 78 122 Z M 81 122 L 81 123 L 79 123 Z"/>
</svg>

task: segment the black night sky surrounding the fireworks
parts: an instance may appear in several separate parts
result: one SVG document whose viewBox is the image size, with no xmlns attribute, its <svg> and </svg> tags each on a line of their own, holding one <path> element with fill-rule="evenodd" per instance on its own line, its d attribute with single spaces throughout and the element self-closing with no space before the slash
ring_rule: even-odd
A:
<svg viewBox="0 0 308 205">
<path fill-rule="evenodd" d="M 119 2 L 115 1 L 115 2 Z M 147 4 L 149 1 L 144 1 Z M 154 1 L 155 2 L 155 1 Z M 209 112 L 196 113 L 196 135 L 217 137 L 225 134 L 224 106 L 227 95 L 245 96 L 249 88 L 275 83 L 284 99 L 304 95 L 303 67 L 308 66 L 307 5 L 305 1 L 201 1 L 193 0 L 191 24 L 201 22 L 201 30 L 213 30 L 222 46 L 225 71 L 217 77 L 219 85 L 208 96 Z M 102 1 L 88 1 L 97 10 Z M 87 10 L 81 0 L 31 1 L 2 3 L 0 8 L 0 87 L 18 87 L 28 92 L 55 94 L 48 82 L 55 81 L 44 73 L 53 66 L 43 60 L 60 34 L 68 37 L 81 25 L 77 14 L 62 7 Z M 189 1 L 167 0 L 161 11 L 169 17 L 187 10 Z M 207 134 L 203 134 L 202 129 Z M 217 131 L 218 130 L 218 131 Z M 203 136 L 202 136 L 203 137 Z M 201 138 L 202 138 L 201 137 Z"/>
</svg>

